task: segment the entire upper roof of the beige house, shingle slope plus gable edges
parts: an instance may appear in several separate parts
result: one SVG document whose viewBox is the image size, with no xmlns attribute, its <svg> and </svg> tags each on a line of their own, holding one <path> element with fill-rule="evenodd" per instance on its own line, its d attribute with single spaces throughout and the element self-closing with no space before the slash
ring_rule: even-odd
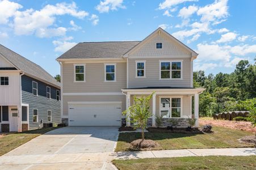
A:
<svg viewBox="0 0 256 170">
<path fill-rule="evenodd" d="M 83 58 L 119 58 L 128 57 L 128 54 L 133 50 L 141 46 L 146 40 L 150 39 L 155 33 L 162 32 L 170 39 L 177 42 L 185 50 L 188 50 L 192 57 L 198 56 L 194 50 L 184 45 L 181 41 L 177 40 L 170 33 L 166 32 L 162 28 L 157 28 L 142 41 L 106 41 L 106 42 L 79 42 L 73 48 L 62 54 L 59 59 L 83 59 Z"/>
</svg>

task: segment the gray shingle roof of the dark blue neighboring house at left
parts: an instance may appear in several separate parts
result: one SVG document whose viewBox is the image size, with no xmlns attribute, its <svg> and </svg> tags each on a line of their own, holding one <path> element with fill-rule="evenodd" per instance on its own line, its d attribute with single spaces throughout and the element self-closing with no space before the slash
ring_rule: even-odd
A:
<svg viewBox="0 0 256 170">
<path fill-rule="evenodd" d="M 28 76 L 35 76 L 35 78 L 39 78 L 39 80 L 44 80 L 54 86 L 60 87 L 60 82 L 53 78 L 47 71 L 45 71 L 42 67 L 33 63 L 20 56 L 19 54 L 13 52 L 12 50 L 6 48 L 5 46 L 0 44 L 0 56 L 9 61 L 16 69 L 22 70 Z"/>
</svg>

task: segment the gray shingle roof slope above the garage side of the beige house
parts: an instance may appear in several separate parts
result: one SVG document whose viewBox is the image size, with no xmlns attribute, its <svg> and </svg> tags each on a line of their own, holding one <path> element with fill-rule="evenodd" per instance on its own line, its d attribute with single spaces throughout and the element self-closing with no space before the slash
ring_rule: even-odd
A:
<svg viewBox="0 0 256 170">
<path fill-rule="evenodd" d="M 141 41 L 79 42 L 57 59 L 64 58 L 117 58 Z"/>
</svg>

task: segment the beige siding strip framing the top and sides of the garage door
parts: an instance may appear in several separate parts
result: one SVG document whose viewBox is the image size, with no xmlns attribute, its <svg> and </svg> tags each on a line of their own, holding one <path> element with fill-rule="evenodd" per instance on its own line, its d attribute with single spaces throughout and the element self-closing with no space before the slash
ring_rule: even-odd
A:
<svg viewBox="0 0 256 170">
<path fill-rule="evenodd" d="M 102 95 L 102 96 L 63 96 L 63 115 L 68 116 L 69 101 L 121 101 L 121 111 L 125 111 L 125 95 Z"/>
</svg>

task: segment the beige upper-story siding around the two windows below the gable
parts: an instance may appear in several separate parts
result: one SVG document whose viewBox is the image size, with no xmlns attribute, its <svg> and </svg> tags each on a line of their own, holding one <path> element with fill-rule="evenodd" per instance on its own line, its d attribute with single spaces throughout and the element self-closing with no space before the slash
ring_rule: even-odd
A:
<svg viewBox="0 0 256 170">
<path fill-rule="evenodd" d="M 144 60 L 145 78 L 136 78 L 136 61 Z M 160 61 L 182 60 L 181 80 L 160 80 Z M 191 60 L 190 58 L 132 58 L 128 61 L 129 88 L 137 87 L 191 87 Z"/>
</svg>

